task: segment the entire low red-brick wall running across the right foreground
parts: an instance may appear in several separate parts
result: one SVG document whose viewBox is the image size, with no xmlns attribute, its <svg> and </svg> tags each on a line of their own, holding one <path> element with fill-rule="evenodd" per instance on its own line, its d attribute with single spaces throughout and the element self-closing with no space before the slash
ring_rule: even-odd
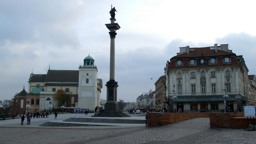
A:
<svg viewBox="0 0 256 144">
<path fill-rule="evenodd" d="M 147 121 L 148 126 L 154 127 L 191 118 L 209 118 L 211 128 L 248 128 L 247 117 L 244 117 L 244 113 L 150 113 Z M 256 118 L 254 119 L 256 123 Z M 250 118 L 249 124 L 252 124 Z"/>
</svg>

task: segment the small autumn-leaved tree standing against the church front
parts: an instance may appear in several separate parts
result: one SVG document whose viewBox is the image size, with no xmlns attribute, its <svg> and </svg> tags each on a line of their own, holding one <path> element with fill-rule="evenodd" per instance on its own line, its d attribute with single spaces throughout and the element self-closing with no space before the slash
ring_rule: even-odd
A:
<svg viewBox="0 0 256 144">
<path fill-rule="evenodd" d="M 55 92 L 55 96 L 53 97 L 54 101 L 57 101 L 57 107 L 62 106 L 62 104 L 64 104 L 66 101 L 70 100 L 70 94 L 72 94 L 72 92 L 65 92 L 63 89 L 58 89 Z"/>
</svg>

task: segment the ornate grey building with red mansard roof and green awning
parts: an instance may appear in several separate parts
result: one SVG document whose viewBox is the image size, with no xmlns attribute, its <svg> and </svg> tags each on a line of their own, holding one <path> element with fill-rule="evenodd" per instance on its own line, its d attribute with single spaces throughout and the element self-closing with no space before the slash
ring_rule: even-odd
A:
<svg viewBox="0 0 256 144">
<path fill-rule="evenodd" d="M 229 50 L 228 44 L 180 47 L 165 68 L 168 111 L 222 112 L 230 107 L 237 112 L 250 102 L 255 105 L 249 96 L 248 71 L 242 55 Z"/>
</svg>

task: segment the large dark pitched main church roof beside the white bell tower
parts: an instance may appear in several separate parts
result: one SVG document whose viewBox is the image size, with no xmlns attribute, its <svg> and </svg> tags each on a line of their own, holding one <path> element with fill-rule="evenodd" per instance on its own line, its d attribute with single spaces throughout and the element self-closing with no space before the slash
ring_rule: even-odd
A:
<svg viewBox="0 0 256 144">
<path fill-rule="evenodd" d="M 78 82 L 79 70 L 48 70 L 45 81 Z"/>
</svg>

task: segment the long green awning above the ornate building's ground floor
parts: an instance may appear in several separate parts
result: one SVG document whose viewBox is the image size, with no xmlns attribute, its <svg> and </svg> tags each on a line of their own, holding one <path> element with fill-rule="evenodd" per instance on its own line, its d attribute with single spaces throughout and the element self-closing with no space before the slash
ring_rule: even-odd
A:
<svg viewBox="0 0 256 144">
<path fill-rule="evenodd" d="M 175 98 L 175 102 L 192 102 L 192 101 L 236 101 L 235 96 L 229 96 L 227 98 L 222 96 L 186 96 Z"/>
</svg>

